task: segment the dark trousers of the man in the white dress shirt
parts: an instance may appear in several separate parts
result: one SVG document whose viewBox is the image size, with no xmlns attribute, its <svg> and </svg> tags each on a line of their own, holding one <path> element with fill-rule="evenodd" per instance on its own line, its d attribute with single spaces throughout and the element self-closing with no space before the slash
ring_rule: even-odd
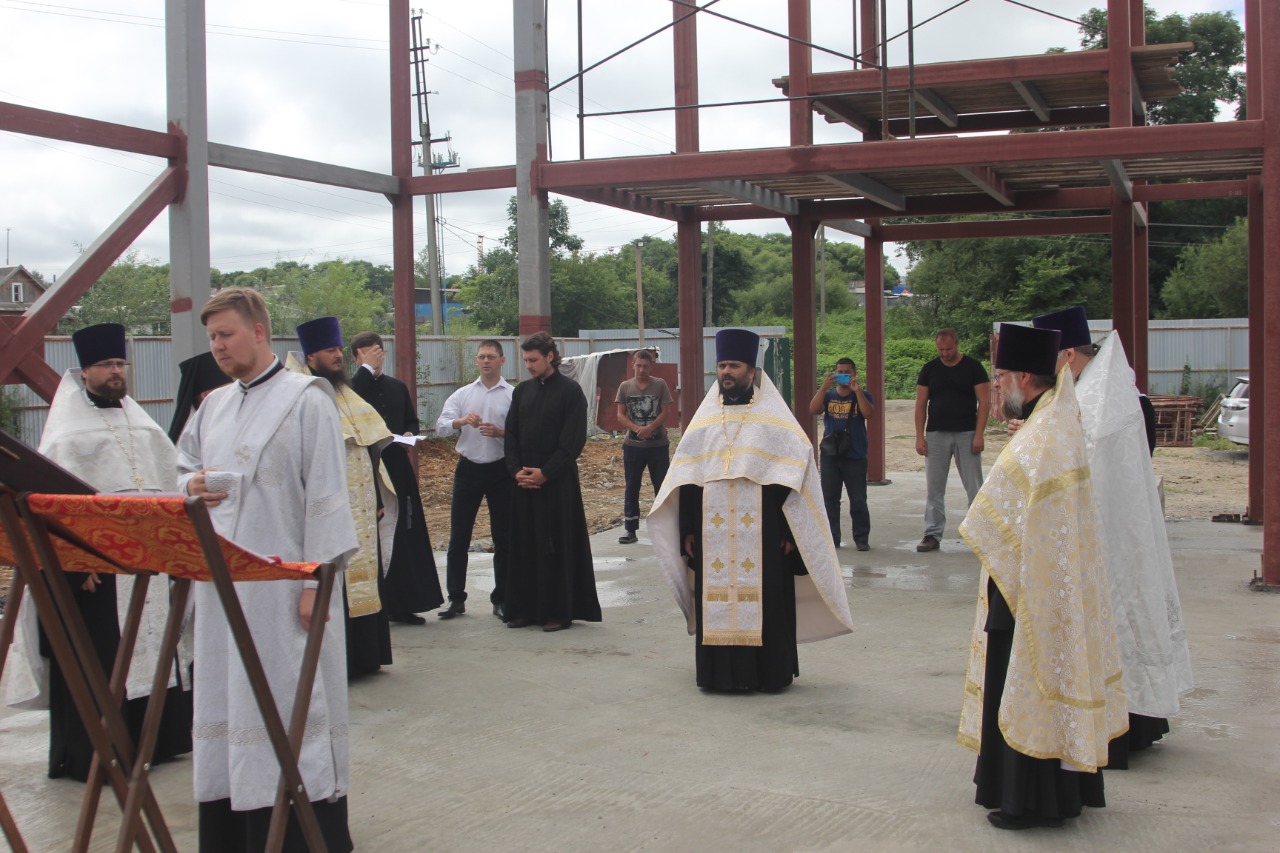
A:
<svg viewBox="0 0 1280 853">
<path fill-rule="evenodd" d="M 493 537 L 493 593 L 490 603 L 500 605 L 507 588 L 507 560 L 511 544 L 511 500 L 516 480 L 507 460 L 480 465 L 458 457 L 453 473 L 453 503 L 449 507 L 449 556 L 445 588 L 451 602 L 467 599 L 467 551 L 475 529 L 480 501 L 489 503 L 489 533 Z"/>
</svg>

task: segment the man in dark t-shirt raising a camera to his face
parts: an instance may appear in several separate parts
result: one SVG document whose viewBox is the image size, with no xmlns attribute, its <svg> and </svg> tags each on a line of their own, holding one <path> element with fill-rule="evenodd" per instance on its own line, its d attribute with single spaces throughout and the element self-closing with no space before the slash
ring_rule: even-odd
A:
<svg viewBox="0 0 1280 853">
<path fill-rule="evenodd" d="M 854 543 L 869 551 L 872 516 L 867 508 L 867 419 L 876 411 L 872 396 L 858 382 L 858 365 L 852 359 L 836 362 L 822 387 L 809 402 L 809 412 L 822 415 L 823 438 L 847 433 L 847 450 L 833 455 L 822 448 L 822 497 L 827 505 L 831 539 L 840 547 L 840 493 L 849 493 L 849 515 L 852 519 Z M 824 442 L 829 444 L 831 442 Z"/>
</svg>

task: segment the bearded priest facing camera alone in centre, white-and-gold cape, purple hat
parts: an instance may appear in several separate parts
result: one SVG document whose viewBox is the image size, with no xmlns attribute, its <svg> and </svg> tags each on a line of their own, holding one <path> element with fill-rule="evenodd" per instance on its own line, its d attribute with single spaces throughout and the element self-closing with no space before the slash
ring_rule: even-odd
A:
<svg viewBox="0 0 1280 853">
<path fill-rule="evenodd" d="M 763 371 L 755 384 L 758 351 L 754 332 L 717 333 L 717 387 L 649 514 L 709 690 L 781 690 L 797 642 L 852 630 L 813 444 Z"/>
</svg>

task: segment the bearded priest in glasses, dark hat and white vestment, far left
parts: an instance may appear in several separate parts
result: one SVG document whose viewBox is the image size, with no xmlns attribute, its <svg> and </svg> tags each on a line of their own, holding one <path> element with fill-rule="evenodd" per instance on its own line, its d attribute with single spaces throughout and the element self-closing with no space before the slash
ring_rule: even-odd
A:
<svg viewBox="0 0 1280 853">
<path fill-rule="evenodd" d="M 79 369 L 63 374 L 41 433 L 40 452 L 102 494 L 173 492 L 177 462 L 165 432 L 128 394 L 124 327 L 102 323 L 72 336 Z M 68 574 L 76 605 L 108 678 L 133 594 L 129 575 Z M 151 693 L 164 625 L 169 617 L 168 578 L 152 578 L 129 663 L 124 719 L 137 740 Z M 5 699 L 23 708 L 50 711 L 49 776 L 84 781 L 93 747 L 79 720 L 56 661 L 42 649 L 31 594 L 23 598 L 14 635 L 13 665 L 5 672 Z M 191 663 L 179 651 L 179 671 Z M 160 735 L 152 761 L 191 752 L 191 698 L 169 681 Z M 189 683 L 186 684 L 189 690 Z"/>
</svg>

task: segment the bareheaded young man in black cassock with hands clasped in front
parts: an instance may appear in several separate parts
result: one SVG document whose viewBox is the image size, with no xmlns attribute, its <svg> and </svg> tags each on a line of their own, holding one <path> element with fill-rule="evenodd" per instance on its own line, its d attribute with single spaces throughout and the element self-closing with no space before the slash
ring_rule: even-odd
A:
<svg viewBox="0 0 1280 853">
<path fill-rule="evenodd" d="M 586 397 L 561 374 L 552 336 L 539 332 L 520 348 L 530 378 L 512 394 L 503 443 L 516 478 L 504 613 L 508 628 L 558 631 L 575 619 L 600 621 L 577 479 Z"/>
</svg>

